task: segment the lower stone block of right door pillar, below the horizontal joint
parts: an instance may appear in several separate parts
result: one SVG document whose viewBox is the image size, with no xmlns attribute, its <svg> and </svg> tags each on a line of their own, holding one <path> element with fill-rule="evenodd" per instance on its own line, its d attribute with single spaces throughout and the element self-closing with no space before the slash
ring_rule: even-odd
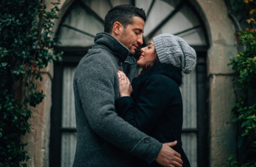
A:
<svg viewBox="0 0 256 167">
<path fill-rule="evenodd" d="M 209 79 L 210 167 L 229 167 L 226 160 L 236 151 L 236 125 L 231 114 L 236 100 L 232 78 L 213 75 Z"/>
</svg>

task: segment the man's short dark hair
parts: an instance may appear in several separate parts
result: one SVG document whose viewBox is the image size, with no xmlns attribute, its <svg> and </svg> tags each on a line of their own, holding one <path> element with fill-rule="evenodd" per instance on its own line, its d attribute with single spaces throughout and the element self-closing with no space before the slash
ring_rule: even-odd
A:
<svg viewBox="0 0 256 167">
<path fill-rule="evenodd" d="M 105 16 L 104 32 L 111 33 L 113 25 L 116 21 L 120 22 L 124 28 L 126 28 L 128 24 L 133 23 L 134 16 L 138 16 L 146 21 L 146 15 L 142 8 L 132 5 L 119 5 L 113 7 Z"/>
</svg>

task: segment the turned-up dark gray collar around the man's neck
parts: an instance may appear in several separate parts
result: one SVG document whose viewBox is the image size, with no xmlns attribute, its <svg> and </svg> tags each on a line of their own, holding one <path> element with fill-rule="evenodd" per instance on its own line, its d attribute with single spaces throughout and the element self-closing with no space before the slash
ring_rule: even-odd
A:
<svg viewBox="0 0 256 167">
<path fill-rule="evenodd" d="M 120 58 L 121 61 L 124 61 L 129 55 L 129 49 L 106 32 L 96 34 L 94 45 L 106 46 L 116 57 Z"/>
</svg>

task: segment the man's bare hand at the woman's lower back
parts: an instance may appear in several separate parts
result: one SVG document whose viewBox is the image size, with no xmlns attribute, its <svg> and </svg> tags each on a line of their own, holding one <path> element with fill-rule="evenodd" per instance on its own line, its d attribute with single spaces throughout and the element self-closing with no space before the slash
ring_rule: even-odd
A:
<svg viewBox="0 0 256 167">
<path fill-rule="evenodd" d="M 171 148 L 176 144 L 177 141 L 163 143 L 155 161 L 164 167 L 182 167 L 181 154 Z"/>
</svg>

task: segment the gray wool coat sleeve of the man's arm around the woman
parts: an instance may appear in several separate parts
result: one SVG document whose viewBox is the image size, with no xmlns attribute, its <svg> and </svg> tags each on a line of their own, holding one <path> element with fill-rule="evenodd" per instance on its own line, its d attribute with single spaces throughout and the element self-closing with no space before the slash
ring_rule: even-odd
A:
<svg viewBox="0 0 256 167">
<path fill-rule="evenodd" d="M 91 128 L 108 142 L 151 163 L 159 154 L 162 143 L 117 116 L 115 65 L 110 59 L 102 60 L 101 56 L 88 57 L 86 62 L 81 64 L 75 82 Z"/>
</svg>

